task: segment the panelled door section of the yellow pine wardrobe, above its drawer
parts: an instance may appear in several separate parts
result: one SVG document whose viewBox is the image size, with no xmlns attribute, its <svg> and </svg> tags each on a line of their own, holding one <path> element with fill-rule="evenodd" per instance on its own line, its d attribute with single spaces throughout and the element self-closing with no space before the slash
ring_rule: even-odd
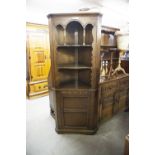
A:
<svg viewBox="0 0 155 155">
<path fill-rule="evenodd" d="M 47 80 L 50 54 L 48 27 L 46 25 L 27 24 L 27 55 L 30 81 Z"/>
</svg>

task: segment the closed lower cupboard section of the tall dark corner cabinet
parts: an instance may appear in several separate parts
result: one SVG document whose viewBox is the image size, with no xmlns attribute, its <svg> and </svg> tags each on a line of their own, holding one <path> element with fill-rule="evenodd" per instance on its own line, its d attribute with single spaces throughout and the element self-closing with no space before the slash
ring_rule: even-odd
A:
<svg viewBox="0 0 155 155">
<path fill-rule="evenodd" d="M 96 91 L 65 90 L 56 92 L 56 131 L 93 134 L 97 130 Z M 96 109 L 96 110 L 95 110 Z"/>
</svg>

